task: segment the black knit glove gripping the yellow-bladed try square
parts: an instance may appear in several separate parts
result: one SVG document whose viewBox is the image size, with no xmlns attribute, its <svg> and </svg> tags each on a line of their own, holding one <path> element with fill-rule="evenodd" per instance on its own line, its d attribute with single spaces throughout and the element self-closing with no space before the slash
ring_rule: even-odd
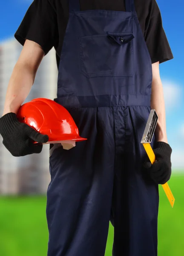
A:
<svg viewBox="0 0 184 256">
<path fill-rule="evenodd" d="M 149 172 L 151 178 L 157 184 L 165 184 L 171 176 L 171 153 L 172 148 L 164 142 L 157 142 L 153 149 L 155 163 L 151 164 L 149 158 L 144 162 L 143 167 Z"/>
</svg>

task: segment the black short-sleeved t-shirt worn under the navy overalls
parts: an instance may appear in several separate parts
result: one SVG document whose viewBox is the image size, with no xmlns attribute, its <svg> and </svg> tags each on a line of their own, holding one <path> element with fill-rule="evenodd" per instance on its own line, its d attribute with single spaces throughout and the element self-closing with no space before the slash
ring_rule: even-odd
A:
<svg viewBox="0 0 184 256">
<path fill-rule="evenodd" d="M 80 0 L 80 9 L 126 11 L 124 0 Z M 172 59 L 156 0 L 135 0 L 135 9 L 152 63 Z M 34 0 L 15 38 L 22 45 L 26 39 L 35 41 L 45 54 L 55 47 L 59 63 L 68 18 L 68 0 Z"/>
</svg>

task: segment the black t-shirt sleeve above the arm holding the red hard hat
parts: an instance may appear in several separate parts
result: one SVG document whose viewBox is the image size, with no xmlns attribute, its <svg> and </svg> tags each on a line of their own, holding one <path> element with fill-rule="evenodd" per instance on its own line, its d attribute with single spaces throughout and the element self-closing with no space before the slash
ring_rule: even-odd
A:
<svg viewBox="0 0 184 256">
<path fill-rule="evenodd" d="M 55 9 L 49 0 L 34 0 L 27 10 L 14 37 L 24 45 L 26 39 L 39 44 L 45 55 L 58 42 Z"/>
</svg>

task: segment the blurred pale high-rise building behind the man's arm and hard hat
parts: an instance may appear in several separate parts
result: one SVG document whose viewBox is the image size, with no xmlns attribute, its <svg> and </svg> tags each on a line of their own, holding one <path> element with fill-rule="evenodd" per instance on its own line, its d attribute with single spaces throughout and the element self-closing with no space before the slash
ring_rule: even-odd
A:
<svg viewBox="0 0 184 256">
<path fill-rule="evenodd" d="M 0 115 L 6 90 L 22 46 L 13 38 L 0 45 Z M 43 97 L 54 99 L 57 92 L 58 70 L 55 50 L 43 58 L 35 83 L 25 102 Z M 0 136 L 0 194 L 43 194 L 50 181 L 49 145 L 43 145 L 40 154 L 13 157 L 2 143 Z"/>
</svg>

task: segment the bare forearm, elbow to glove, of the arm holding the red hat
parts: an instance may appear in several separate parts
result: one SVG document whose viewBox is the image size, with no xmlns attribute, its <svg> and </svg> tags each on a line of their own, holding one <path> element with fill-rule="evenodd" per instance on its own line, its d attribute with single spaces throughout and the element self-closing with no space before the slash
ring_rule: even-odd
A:
<svg viewBox="0 0 184 256">
<path fill-rule="evenodd" d="M 15 65 L 6 93 L 3 115 L 17 113 L 29 95 L 34 79 L 35 73 L 28 66 L 19 63 Z"/>
</svg>

